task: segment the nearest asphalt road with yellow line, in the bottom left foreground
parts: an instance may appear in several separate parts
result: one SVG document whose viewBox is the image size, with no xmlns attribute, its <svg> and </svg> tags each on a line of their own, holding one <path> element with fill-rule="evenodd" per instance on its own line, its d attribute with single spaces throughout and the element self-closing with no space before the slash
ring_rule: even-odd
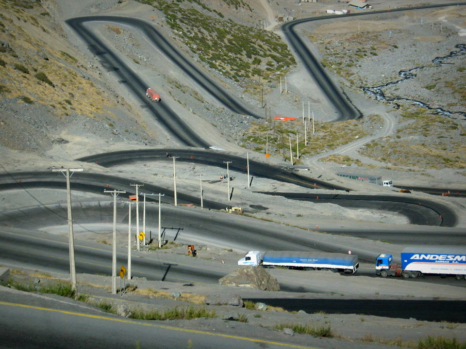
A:
<svg viewBox="0 0 466 349">
<path fill-rule="evenodd" d="M 0 346 L 11 349 L 308 348 L 188 330 L 167 325 L 166 321 L 122 318 L 72 301 L 39 299 L 24 292 L 18 295 L 13 290 L 0 292 L 0 337 Z"/>
</svg>

